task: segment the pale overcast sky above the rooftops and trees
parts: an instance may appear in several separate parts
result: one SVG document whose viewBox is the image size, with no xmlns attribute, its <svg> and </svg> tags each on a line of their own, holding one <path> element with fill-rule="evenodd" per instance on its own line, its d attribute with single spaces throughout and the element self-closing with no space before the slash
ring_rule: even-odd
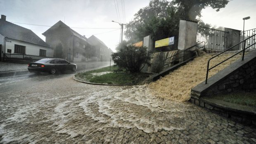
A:
<svg viewBox="0 0 256 144">
<path fill-rule="evenodd" d="M 114 2 L 117 2 L 116 6 Z M 128 23 L 140 8 L 148 5 L 149 0 L 123 0 L 123 2 L 122 10 L 122 0 L 0 0 L 0 14 L 6 15 L 7 21 L 26 23 L 14 24 L 31 29 L 43 40 L 45 37 L 42 33 L 50 28 L 47 26 L 52 26 L 61 20 L 87 38 L 94 34 L 115 51 L 120 38 L 120 26 L 111 21 Z M 115 7 L 119 8 L 120 20 Z M 242 18 L 250 16 L 251 19 L 245 24 L 245 30 L 249 30 L 256 28 L 255 8 L 256 0 L 232 0 L 219 12 L 211 7 L 204 9 L 201 19 L 212 25 L 242 30 Z"/>
</svg>

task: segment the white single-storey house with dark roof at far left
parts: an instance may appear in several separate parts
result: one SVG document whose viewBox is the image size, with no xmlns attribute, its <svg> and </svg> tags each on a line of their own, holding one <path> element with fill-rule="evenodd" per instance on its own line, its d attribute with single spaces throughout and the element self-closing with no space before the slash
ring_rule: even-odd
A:
<svg viewBox="0 0 256 144">
<path fill-rule="evenodd" d="M 0 19 L 0 52 L 32 54 L 53 57 L 53 49 L 30 29 L 6 21 L 6 16 Z"/>
</svg>

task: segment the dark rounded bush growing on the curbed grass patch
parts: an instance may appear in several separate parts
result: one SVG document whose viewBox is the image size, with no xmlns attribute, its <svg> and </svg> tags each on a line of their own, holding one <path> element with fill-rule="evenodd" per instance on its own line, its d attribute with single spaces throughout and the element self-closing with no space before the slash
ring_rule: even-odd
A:
<svg viewBox="0 0 256 144">
<path fill-rule="evenodd" d="M 117 52 L 111 54 L 114 63 L 119 68 L 124 68 L 131 73 L 138 73 L 147 64 L 150 65 L 151 56 L 147 52 L 147 47 L 135 47 L 121 42 L 117 47 Z"/>
</svg>

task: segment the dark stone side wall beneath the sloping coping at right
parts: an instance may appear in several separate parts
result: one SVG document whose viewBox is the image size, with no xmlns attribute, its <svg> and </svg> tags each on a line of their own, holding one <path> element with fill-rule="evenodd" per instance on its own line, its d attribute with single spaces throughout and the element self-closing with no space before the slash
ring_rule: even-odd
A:
<svg viewBox="0 0 256 144">
<path fill-rule="evenodd" d="M 203 95 L 226 94 L 236 90 L 256 89 L 256 58 L 244 64 Z"/>
</svg>

